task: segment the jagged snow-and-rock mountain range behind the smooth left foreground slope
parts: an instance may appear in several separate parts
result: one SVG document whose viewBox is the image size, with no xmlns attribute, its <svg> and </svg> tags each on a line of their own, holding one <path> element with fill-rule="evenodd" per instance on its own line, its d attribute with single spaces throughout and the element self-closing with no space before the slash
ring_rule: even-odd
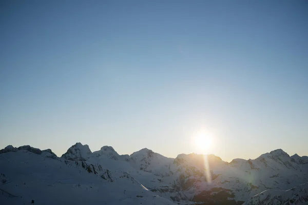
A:
<svg viewBox="0 0 308 205">
<path fill-rule="evenodd" d="M 31 152 L 63 161 L 50 149 L 7 146 L 0 150 L 6 152 Z M 87 145 L 76 143 L 62 157 L 68 167 L 82 168 L 104 182 L 115 183 L 124 178 L 142 183 L 155 194 L 180 204 L 241 204 L 248 199 L 252 202 L 247 204 L 306 202 L 306 187 L 297 189 L 301 193 L 287 190 L 308 181 L 308 157 L 290 157 L 281 149 L 256 159 L 234 159 L 228 163 L 215 155 L 194 153 L 168 158 L 146 148 L 130 156 L 119 155 L 110 146 L 92 153 Z M 281 191 L 293 194 L 282 196 Z"/>
</svg>

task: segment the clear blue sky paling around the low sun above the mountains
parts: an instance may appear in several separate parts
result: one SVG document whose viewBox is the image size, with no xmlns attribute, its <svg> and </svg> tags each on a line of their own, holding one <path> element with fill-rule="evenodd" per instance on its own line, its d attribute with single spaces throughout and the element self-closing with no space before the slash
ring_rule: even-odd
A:
<svg viewBox="0 0 308 205">
<path fill-rule="evenodd" d="M 307 19 L 307 1 L 1 1 L 0 149 L 308 155 Z"/>
</svg>

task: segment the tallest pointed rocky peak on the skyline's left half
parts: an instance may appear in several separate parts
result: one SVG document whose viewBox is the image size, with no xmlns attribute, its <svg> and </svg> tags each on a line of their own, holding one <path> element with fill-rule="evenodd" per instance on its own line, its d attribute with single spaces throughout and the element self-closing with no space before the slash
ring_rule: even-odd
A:
<svg viewBox="0 0 308 205">
<path fill-rule="evenodd" d="M 92 152 L 88 145 L 82 145 L 80 142 L 77 142 L 62 157 L 72 161 L 86 161 L 90 154 Z"/>
</svg>

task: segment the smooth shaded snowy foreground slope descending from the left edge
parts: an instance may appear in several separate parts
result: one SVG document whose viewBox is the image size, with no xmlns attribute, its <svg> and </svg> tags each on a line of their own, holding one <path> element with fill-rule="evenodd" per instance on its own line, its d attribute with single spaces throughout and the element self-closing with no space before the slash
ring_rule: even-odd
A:
<svg viewBox="0 0 308 205">
<path fill-rule="evenodd" d="M 1 154 L 0 204 L 32 199 L 35 204 L 173 204 L 128 173 L 49 156 L 26 150 Z"/>
</svg>

